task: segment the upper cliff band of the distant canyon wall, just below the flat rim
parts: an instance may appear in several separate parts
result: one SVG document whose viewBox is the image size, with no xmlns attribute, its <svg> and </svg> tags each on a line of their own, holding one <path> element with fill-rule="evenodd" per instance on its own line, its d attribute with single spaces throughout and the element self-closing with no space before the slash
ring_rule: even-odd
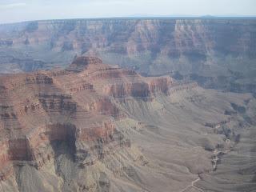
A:
<svg viewBox="0 0 256 192">
<path fill-rule="evenodd" d="M 148 50 L 174 57 L 206 58 L 214 51 L 255 58 L 254 24 L 254 19 L 243 18 L 102 19 L 25 22 L 1 26 L 0 30 L 2 46 L 50 42 L 53 50 L 83 53 L 107 49 L 129 55 Z"/>
</svg>

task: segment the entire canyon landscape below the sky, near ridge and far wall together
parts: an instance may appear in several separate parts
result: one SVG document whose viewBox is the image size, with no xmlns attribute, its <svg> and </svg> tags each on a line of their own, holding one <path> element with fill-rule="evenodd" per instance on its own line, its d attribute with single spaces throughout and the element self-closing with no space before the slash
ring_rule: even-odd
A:
<svg viewBox="0 0 256 192">
<path fill-rule="evenodd" d="M 256 20 L 0 25 L 0 191 L 256 190 Z"/>
</svg>

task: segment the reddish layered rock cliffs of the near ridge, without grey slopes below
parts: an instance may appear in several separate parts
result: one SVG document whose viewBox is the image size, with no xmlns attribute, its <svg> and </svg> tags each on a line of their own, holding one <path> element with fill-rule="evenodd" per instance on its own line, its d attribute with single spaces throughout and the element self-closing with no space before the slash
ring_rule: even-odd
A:
<svg viewBox="0 0 256 192">
<path fill-rule="evenodd" d="M 122 140 L 113 121 L 124 116 L 110 97 L 148 99 L 168 94 L 171 85 L 170 78 L 143 78 L 88 57 L 66 70 L 0 77 L 1 179 L 24 163 L 39 169 L 53 158 L 56 141 L 82 165 L 88 155 L 101 157 L 94 145 Z"/>
</svg>

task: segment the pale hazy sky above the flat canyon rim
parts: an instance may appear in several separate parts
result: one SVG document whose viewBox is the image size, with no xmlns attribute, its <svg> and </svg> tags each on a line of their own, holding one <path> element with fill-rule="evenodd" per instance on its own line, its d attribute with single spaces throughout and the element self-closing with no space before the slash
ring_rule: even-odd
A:
<svg viewBox="0 0 256 192">
<path fill-rule="evenodd" d="M 256 15 L 256 0 L 0 0 L 0 22 L 137 15 Z"/>
</svg>

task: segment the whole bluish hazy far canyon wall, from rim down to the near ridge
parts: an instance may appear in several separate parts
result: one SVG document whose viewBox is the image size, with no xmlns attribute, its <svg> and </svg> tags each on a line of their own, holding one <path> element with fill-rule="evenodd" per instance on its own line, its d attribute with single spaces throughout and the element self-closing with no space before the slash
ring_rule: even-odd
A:
<svg viewBox="0 0 256 192">
<path fill-rule="evenodd" d="M 254 18 L 77 19 L 0 26 L 2 73 L 68 66 L 76 54 L 207 88 L 256 92 Z"/>
</svg>

